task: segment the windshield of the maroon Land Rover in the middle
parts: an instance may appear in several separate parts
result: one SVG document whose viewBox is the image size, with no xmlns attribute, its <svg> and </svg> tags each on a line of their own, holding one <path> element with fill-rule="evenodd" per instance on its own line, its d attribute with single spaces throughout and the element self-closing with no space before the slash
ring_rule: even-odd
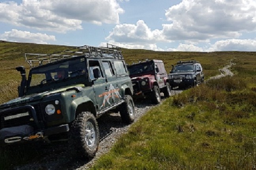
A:
<svg viewBox="0 0 256 170">
<path fill-rule="evenodd" d="M 153 70 L 154 70 L 153 63 L 143 63 L 141 65 L 131 65 L 128 67 L 128 71 L 130 75 L 142 74 L 142 73 L 150 72 Z"/>
</svg>

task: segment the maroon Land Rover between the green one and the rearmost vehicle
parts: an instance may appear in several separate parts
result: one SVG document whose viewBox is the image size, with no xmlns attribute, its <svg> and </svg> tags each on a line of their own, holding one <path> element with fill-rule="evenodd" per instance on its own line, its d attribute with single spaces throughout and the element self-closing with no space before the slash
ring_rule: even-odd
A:
<svg viewBox="0 0 256 170">
<path fill-rule="evenodd" d="M 160 103 L 160 92 L 165 97 L 171 95 L 168 74 L 162 60 L 146 60 L 128 66 L 134 89 L 134 98 L 151 98 L 152 103 Z"/>
</svg>

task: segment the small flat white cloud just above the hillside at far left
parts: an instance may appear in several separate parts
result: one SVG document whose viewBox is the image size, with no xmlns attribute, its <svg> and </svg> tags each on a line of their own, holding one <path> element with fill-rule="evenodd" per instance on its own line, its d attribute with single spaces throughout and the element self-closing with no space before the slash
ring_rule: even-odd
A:
<svg viewBox="0 0 256 170">
<path fill-rule="evenodd" d="M 13 29 L 11 31 L 6 31 L 3 34 L 0 34 L 0 39 L 4 41 L 47 44 L 47 41 L 55 41 L 55 36 Z"/>
</svg>

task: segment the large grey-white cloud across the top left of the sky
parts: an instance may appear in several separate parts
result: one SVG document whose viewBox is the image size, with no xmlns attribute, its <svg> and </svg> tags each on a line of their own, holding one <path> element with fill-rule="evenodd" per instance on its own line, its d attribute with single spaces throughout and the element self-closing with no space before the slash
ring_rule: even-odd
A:
<svg viewBox="0 0 256 170">
<path fill-rule="evenodd" d="M 81 23 L 118 24 L 124 10 L 116 0 L 23 0 L 0 3 L 0 21 L 15 26 L 63 32 L 82 29 Z"/>
</svg>

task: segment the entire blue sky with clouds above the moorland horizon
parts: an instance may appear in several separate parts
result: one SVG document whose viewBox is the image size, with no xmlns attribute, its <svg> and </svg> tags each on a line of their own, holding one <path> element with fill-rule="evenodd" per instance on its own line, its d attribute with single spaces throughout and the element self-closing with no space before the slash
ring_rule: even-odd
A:
<svg viewBox="0 0 256 170">
<path fill-rule="evenodd" d="M 0 40 L 154 51 L 256 51 L 256 0 L 0 1 Z"/>
</svg>

